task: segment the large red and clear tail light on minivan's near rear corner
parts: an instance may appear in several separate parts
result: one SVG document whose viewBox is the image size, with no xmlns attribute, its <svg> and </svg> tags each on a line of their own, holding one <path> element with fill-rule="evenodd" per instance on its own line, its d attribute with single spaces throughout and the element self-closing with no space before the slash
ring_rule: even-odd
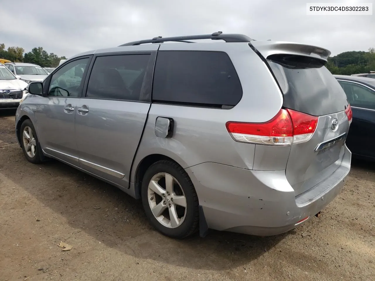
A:
<svg viewBox="0 0 375 281">
<path fill-rule="evenodd" d="M 265 145 L 291 145 L 311 139 L 318 117 L 291 109 L 280 109 L 266 123 L 227 122 L 226 129 L 240 142 Z"/>
</svg>

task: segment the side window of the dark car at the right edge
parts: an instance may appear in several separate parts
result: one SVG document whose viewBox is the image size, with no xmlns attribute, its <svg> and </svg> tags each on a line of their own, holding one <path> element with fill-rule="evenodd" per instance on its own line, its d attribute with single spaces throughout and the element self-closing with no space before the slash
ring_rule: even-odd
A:
<svg viewBox="0 0 375 281">
<path fill-rule="evenodd" d="M 352 82 L 339 81 L 339 83 L 347 94 L 351 106 L 375 109 L 374 90 Z"/>
</svg>

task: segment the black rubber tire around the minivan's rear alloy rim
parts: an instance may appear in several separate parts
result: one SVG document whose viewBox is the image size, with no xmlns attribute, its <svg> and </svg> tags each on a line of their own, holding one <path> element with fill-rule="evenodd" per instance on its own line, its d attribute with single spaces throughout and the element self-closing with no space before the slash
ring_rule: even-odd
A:
<svg viewBox="0 0 375 281">
<path fill-rule="evenodd" d="M 180 184 L 186 198 L 186 215 L 180 226 L 168 228 L 163 226 L 153 215 L 148 203 L 148 184 L 154 175 L 168 173 Z M 186 238 L 192 235 L 199 226 L 198 196 L 194 185 L 185 170 L 172 160 L 160 160 L 152 164 L 145 172 L 141 186 L 141 197 L 144 211 L 150 224 L 159 232 L 172 238 Z"/>
</svg>

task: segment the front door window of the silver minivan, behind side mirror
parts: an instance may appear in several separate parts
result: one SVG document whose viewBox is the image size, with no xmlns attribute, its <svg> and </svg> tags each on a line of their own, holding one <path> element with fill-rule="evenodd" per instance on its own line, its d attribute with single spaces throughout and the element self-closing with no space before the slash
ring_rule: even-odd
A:
<svg viewBox="0 0 375 281">
<path fill-rule="evenodd" d="M 59 70 L 51 78 L 48 96 L 80 97 L 83 87 L 83 74 L 89 58 L 72 61 Z"/>
</svg>

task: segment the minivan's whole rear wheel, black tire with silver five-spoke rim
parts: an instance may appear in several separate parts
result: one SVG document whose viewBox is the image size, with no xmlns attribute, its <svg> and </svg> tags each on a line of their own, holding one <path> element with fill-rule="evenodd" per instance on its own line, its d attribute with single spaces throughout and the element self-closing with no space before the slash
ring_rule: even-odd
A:
<svg viewBox="0 0 375 281">
<path fill-rule="evenodd" d="M 151 225 L 164 235 L 184 238 L 198 229 L 198 196 L 184 169 L 161 160 L 146 171 L 142 203 Z"/>
</svg>

